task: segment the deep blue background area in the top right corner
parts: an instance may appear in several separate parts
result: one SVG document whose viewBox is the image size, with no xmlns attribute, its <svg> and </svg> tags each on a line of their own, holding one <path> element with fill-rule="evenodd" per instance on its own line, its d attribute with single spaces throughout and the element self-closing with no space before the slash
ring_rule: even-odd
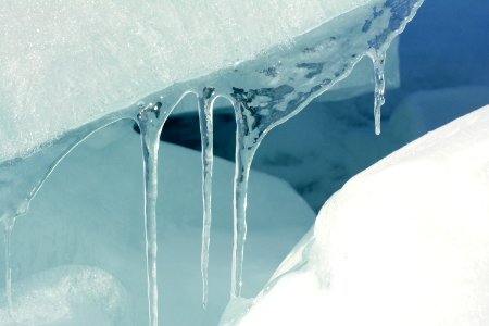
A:
<svg viewBox="0 0 489 326">
<path fill-rule="evenodd" d="M 399 47 L 409 90 L 489 85 L 489 2 L 426 1 Z"/>
</svg>

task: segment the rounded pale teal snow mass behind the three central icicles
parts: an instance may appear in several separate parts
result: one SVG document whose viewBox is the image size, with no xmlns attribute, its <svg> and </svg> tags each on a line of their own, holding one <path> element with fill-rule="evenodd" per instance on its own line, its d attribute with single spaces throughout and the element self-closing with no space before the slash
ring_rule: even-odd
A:
<svg viewBox="0 0 489 326">
<path fill-rule="evenodd" d="M 234 165 L 215 159 L 210 299 L 204 311 L 200 153 L 168 143 L 161 143 L 160 151 L 161 324 L 216 325 L 229 298 Z M 65 321 L 62 311 L 87 316 L 93 312 L 95 325 L 114 318 L 122 321 L 116 325 L 148 324 L 140 156 L 140 139 L 131 122 L 122 121 L 96 133 L 60 163 L 33 200 L 29 213 L 17 218 L 12 243 L 14 312 L 24 321 L 35 321 L 21 325 L 45 325 L 43 321 L 51 323 L 48 325 L 77 325 L 73 321 L 86 325 L 82 317 Z M 250 191 L 243 287 L 248 297 L 263 287 L 314 220 L 308 204 L 279 179 L 252 172 Z M 109 279 L 108 286 L 76 281 L 79 275 L 95 273 L 90 271 Z M 0 268 L 0 278 L 3 273 Z M 77 292 L 65 291 L 72 283 L 79 285 Z M 129 304 L 123 298 L 113 310 L 95 314 L 98 304 L 90 302 L 110 297 L 112 288 L 126 293 Z M 38 294 L 33 298 L 30 293 Z M 39 299 L 43 294 L 49 294 L 49 300 Z M 41 312 L 46 313 L 42 318 Z M 5 325 L 2 301 L 0 325 Z"/>
</svg>

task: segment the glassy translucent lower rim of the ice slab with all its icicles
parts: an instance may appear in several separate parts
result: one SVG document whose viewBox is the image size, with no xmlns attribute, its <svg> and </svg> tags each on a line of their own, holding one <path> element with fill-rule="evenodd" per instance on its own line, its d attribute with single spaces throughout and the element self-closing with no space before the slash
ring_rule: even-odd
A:
<svg viewBox="0 0 489 326">
<path fill-rule="evenodd" d="M 423 0 L 387 0 L 364 7 L 299 36 L 292 46 L 276 47 L 262 57 L 196 80 L 175 84 L 140 102 L 73 129 L 27 158 L 0 163 L 0 221 L 5 234 L 5 291 L 12 314 L 11 235 L 17 216 L 58 163 L 96 130 L 122 118 L 139 125 L 143 156 L 145 226 L 149 321 L 158 325 L 156 199 L 160 136 L 166 118 L 186 96 L 197 97 L 202 140 L 203 228 L 201 272 L 203 305 L 208 301 L 211 193 L 213 174 L 213 103 L 223 97 L 236 114 L 236 171 L 234 180 L 234 248 L 230 297 L 239 298 L 247 238 L 247 193 L 254 153 L 275 126 L 304 109 L 314 98 L 343 79 L 365 55 L 374 63 L 375 131 L 380 134 L 386 49 L 414 16 Z M 17 176 L 23 176 L 21 179 Z"/>
</svg>

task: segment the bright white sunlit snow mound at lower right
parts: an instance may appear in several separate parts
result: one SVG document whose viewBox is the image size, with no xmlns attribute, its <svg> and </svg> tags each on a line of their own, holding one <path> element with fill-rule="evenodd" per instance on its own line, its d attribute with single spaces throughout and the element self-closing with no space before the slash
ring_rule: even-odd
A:
<svg viewBox="0 0 489 326">
<path fill-rule="evenodd" d="M 488 126 L 485 106 L 353 177 L 238 325 L 487 325 Z"/>
</svg>

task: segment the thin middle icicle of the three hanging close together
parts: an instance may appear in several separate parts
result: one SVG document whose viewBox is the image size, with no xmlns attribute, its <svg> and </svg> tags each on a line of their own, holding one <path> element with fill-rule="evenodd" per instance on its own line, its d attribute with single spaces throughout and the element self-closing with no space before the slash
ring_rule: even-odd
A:
<svg viewBox="0 0 489 326">
<path fill-rule="evenodd" d="M 202 95 L 199 96 L 199 123 L 200 137 L 202 142 L 202 252 L 201 252 L 201 273 L 202 273 L 202 305 L 208 305 L 209 296 L 209 246 L 211 242 L 211 196 L 212 196 L 212 172 L 214 164 L 213 148 L 213 122 L 212 106 L 214 88 L 205 87 Z"/>
</svg>

